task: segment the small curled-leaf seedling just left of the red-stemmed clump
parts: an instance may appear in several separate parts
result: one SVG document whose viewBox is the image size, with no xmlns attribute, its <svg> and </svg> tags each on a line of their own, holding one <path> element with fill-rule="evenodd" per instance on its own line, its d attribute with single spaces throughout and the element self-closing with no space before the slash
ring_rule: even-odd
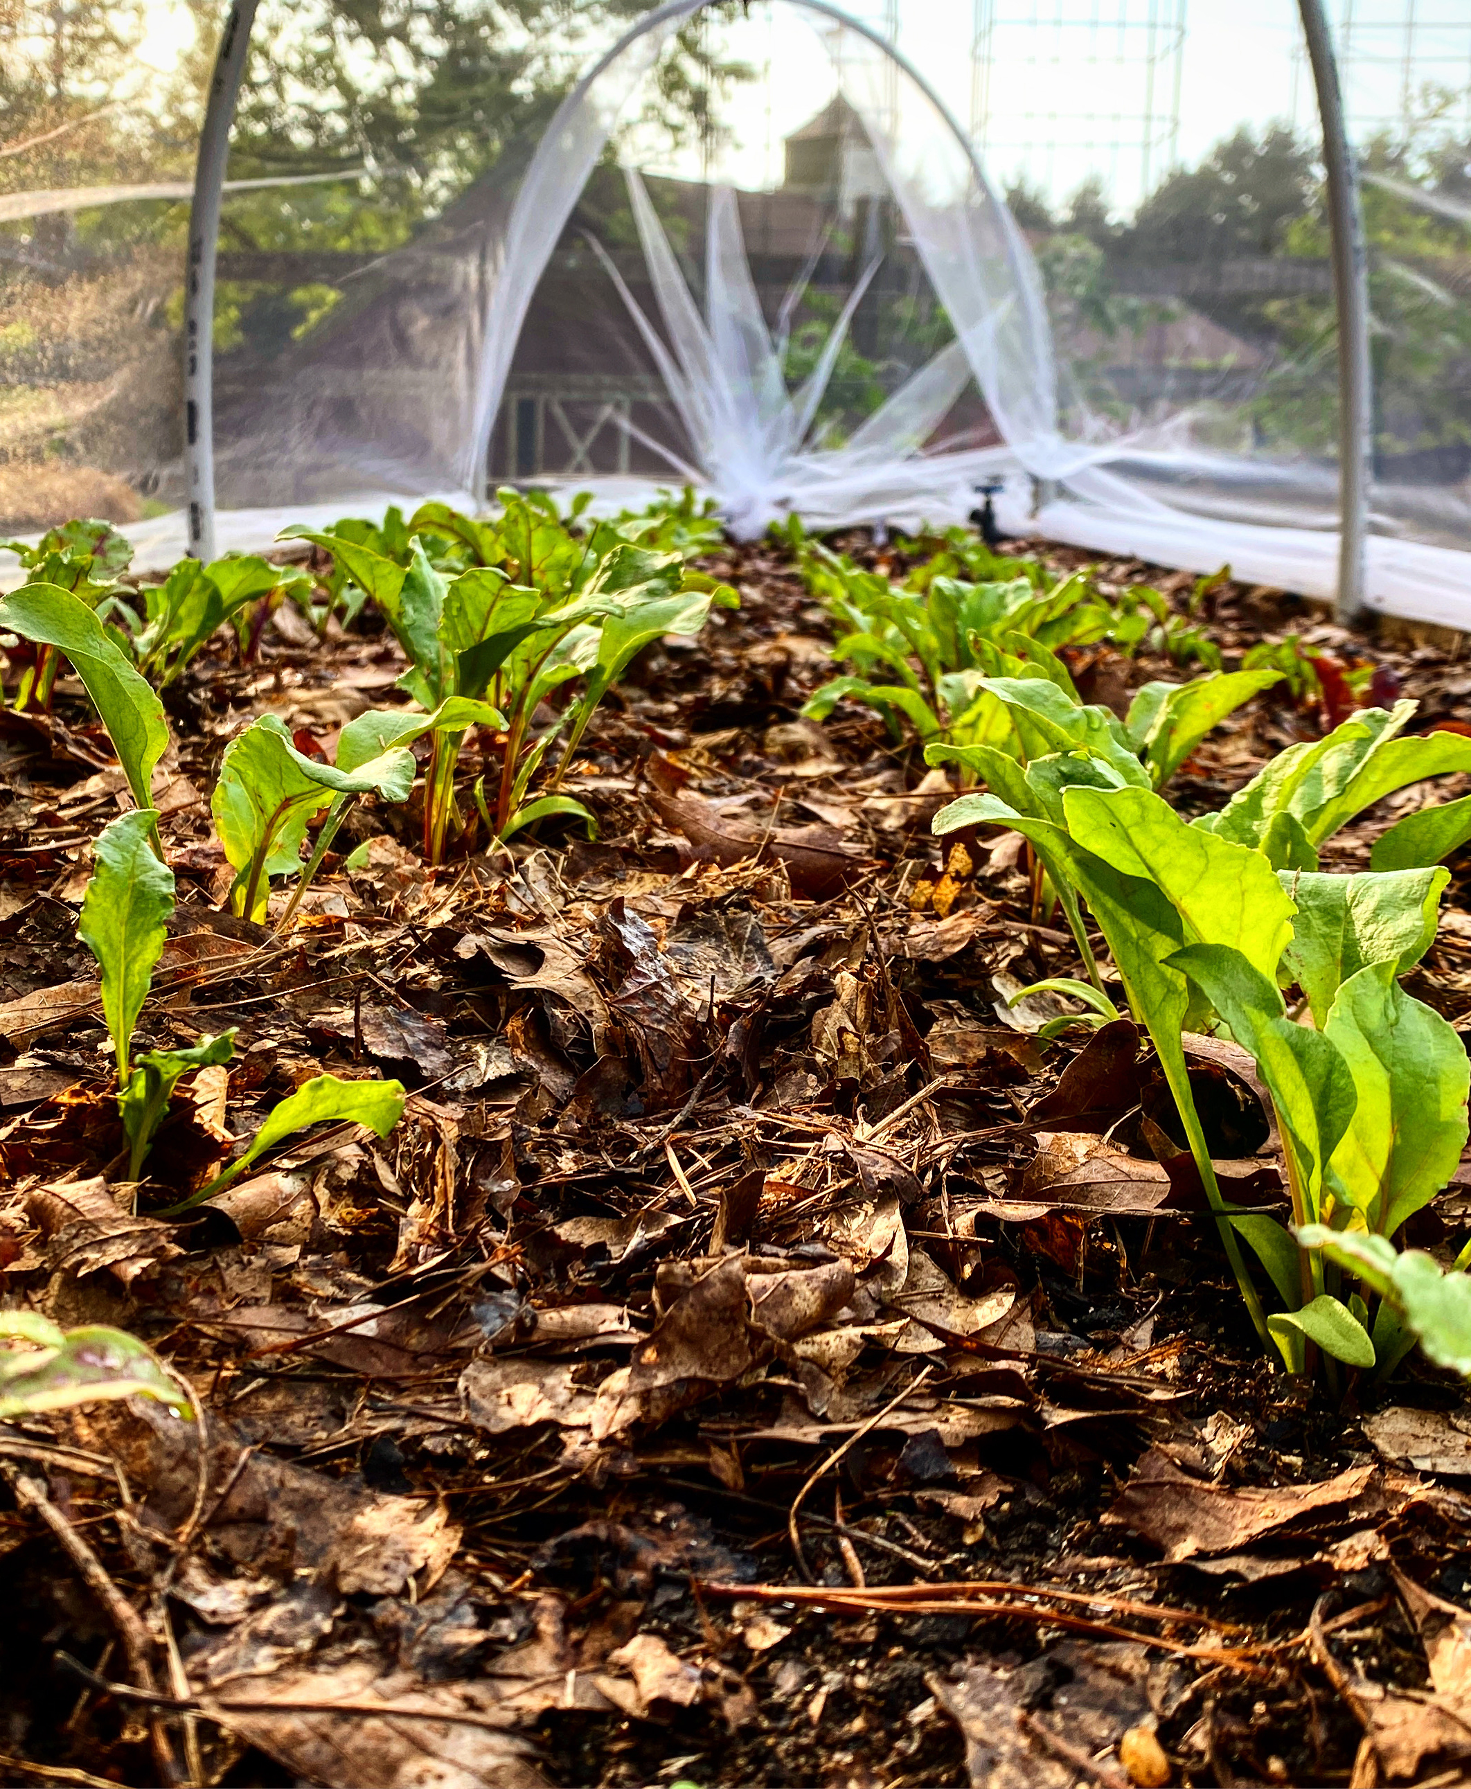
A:
<svg viewBox="0 0 1471 1789">
<path fill-rule="evenodd" d="M 329 825 L 335 832 L 347 803 L 360 794 L 406 801 L 413 773 L 413 753 L 403 746 L 388 746 L 344 769 L 319 764 L 297 751 L 288 728 L 274 714 L 252 721 L 225 746 L 220 780 L 209 803 L 215 830 L 236 871 L 231 887 L 234 912 L 247 920 L 265 918 L 270 877 L 301 871 L 301 846 L 313 814 L 333 807 Z M 324 850 L 319 843 L 299 884 L 297 900 L 315 875 Z"/>
</svg>

